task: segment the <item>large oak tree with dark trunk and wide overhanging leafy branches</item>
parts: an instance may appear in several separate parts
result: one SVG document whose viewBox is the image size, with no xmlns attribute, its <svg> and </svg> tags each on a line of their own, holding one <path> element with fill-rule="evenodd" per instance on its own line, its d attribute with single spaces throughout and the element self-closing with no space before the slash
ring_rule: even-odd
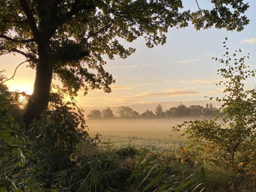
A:
<svg viewBox="0 0 256 192">
<path fill-rule="evenodd" d="M 211 10 L 182 9 L 182 0 L 0 0 L 0 54 L 21 54 L 36 70 L 34 90 L 24 120 L 28 130 L 48 106 L 52 78 L 58 78 L 71 95 L 78 90 L 111 92 L 112 75 L 102 55 L 126 58 L 132 42 L 144 36 L 146 45 L 164 44 L 169 28 L 192 21 L 196 30 L 243 30 L 249 20 L 243 0 L 211 0 Z M 195 1 L 195 4 L 197 1 Z"/>
</svg>

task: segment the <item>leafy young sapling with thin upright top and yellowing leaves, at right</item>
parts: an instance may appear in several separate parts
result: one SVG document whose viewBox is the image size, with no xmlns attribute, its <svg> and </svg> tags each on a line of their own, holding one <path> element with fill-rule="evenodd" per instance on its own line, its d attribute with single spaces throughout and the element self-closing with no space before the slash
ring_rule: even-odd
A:
<svg viewBox="0 0 256 192">
<path fill-rule="evenodd" d="M 256 153 L 256 89 L 245 90 L 243 82 L 249 77 L 254 77 L 255 70 L 247 70 L 249 66 L 245 65 L 249 53 L 240 59 L 236 58 L 236 54 L 242 52 L 241 49 L 233 54 L 228 53 L 227 40 L 228 38 L 225 38 L 223 42 L 226 49 L 224 58 L 212 58 L 225 64 L 224 68 L 218 70 L 218 74 L 225 80 L 215 84 L 224 86 L 225 96 L 222 99 L 210 98 L 222 103 L 216 111 L 221 115 L 215 119 L 184 122 L 172 127 L 172 131 L 179 132 L 184 127 L 192 144 L 188 148 L 197 148 L 197 152 L 200 151 L 203 158 L 210 157 L 211 162 L 223 163 L 224 160 L 232 166 L 245 166 L 252 162 Z M 222 121 L 219 120 L 220 117 Z M 217 155 L 221 157 L 216 157 Z"/>
</svg>

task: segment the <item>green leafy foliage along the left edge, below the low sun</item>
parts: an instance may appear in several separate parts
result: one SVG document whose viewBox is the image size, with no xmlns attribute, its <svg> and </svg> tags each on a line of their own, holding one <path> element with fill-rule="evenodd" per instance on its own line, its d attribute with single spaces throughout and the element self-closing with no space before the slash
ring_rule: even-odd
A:
<svg viewBox="0 0 256 192">
<path fill-rule="evenodd" d="M 0 86 L 6 88 L 2 82 Z M 0 191 L 3 192 L 9 188 L 16 189 L 12 175 L 16 172 L 16 168 L 19 169 L 28 162 L 28 155 L 24 154 L 23 146 L 30 142 L 25 135 L 18 132 L 20 126 L 10 113 L 12 107 L 17 106 L 12 94 L 6 89 L 0 94 Z"/>
</svg>

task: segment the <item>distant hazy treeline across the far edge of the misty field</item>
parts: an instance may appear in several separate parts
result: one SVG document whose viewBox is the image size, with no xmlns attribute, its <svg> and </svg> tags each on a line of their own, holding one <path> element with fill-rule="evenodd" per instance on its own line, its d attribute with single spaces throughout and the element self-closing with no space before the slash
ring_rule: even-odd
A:
<svg viewBox="0 0 256 192">
<path fill-rule="evenodd" d="M 143 113 L 134 111 L 129 106 L 120 106 L 116 109 L 116 113 L 113 113 L 111 108 L 106 108 L 102 111 L 92 110 L 88 115 L 88 119 L 113 119 L 113 118 L 174 118 L 174 117 L 209 117 L 216 115 L 216 108 L 212 103 L 206 103 L 206 106 L 190 105 L 185 106 L 180 104 L 177 107 L 171 107 L 170 109 L 163 110 L 163 106 L 158 104 L 154 110 L 146 110 Z"/>
</svg>

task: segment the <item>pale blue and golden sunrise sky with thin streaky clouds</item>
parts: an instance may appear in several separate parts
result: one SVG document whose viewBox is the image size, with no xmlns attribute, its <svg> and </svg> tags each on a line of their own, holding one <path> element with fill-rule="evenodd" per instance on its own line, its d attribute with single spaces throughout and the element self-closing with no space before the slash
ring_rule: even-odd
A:
<svg viewBox="0 0 256 192">
<path fill-rule="evenodd" d="M 206 0 L 198 0 L 201 6 L 208 6 Z M 249 0 L 250 8 L 246 16 L 250 24 L 242 32 L 225 29 L 207 29 L 196 31 L 192 24 L 187 28 L 171 28 L 167 33 L 167 42 L 149 49 L 144 38 L 127 43 L 125 47 L 136 48 L 136 52 L 123 60 L 115 57 L 108 60 L 105 69 L 110 72 L 116 83 L 111 93 L 102 90 L 90 90 L 87 96 L 83 91 L 76 97 L 77 105 L 85 114 L 93 109 L 102 110 L 110 107 L 114 111 L 118 106 L 130 106 L 138 112 L 154 110 L 158 103 L 165 109 L 179 105 L 205 105 L 208 97 L 222 97 L 223 88 L 214 83 L 221 80 L 217 69 L 224 67 L 212 57 L 221 58 L 226 50 L 222 47 L 228 37 L 229 52 L 242 49 L 244 56 L 250 53 L 246 64 L 256 68 L 256 1 Z M 184 9 L 197 10 L 195 1 L 184 0 Z M 21 55 L 0 57 L 1 68 L 7 77 L 11 77 L 16 66 L 24 61 Z M 14 80 L 7 82 L 11 91 L 19 90 L 31 94 L 35 71 L 22 65 L 18 68 Z M 57 82 L 58 83 L 58 82 Z M 256 79 L 250 78 L 245 87 L 255 87 Z M 220 104 L 213 101 L 213 105 Z"/>
</svg>

